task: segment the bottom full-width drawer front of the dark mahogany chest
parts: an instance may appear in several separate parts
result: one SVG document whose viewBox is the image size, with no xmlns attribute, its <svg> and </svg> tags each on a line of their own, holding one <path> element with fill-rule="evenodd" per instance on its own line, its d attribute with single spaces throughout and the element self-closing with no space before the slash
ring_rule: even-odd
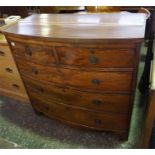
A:
<svg viewBox="0 0 155 155">
<path fill-rule="evenodd" d="M 46 101 L 45 98 L 32 97 L 32 104 L 38 111 L 49 117 L 74 122 L 79 126 L 87 126 L 99 130 L 127 130 L 128 115 L 106 114 L 73 108 L 64 104 Z"/>
</svg>

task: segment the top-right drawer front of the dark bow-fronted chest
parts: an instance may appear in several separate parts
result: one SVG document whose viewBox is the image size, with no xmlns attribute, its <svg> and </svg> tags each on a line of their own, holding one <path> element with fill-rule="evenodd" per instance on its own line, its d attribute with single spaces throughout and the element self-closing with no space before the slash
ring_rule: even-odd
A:
<svg viewBox="0 0 155 155">
<path fill-rule="evenodd" d="M 57 47 L 56 51 L 59 62 L 63 65 L 100 68 L 132 68 L 135 66 L 135 51 L 133 49 Z"/>
</svg>

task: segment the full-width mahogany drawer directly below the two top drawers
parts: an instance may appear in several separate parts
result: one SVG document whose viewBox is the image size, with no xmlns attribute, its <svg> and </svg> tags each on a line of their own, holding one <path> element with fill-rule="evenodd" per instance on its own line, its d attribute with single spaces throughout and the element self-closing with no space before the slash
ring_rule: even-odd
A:
<svg viewBox="0 0 155 155">
<path fill-rule="evenodd" d="M 16 57 L 21 74 L 34 80 L 54 82 L 95 91 L 130 91 L 132 72 L 84 71 L 41 66 Z"/>
</svg>

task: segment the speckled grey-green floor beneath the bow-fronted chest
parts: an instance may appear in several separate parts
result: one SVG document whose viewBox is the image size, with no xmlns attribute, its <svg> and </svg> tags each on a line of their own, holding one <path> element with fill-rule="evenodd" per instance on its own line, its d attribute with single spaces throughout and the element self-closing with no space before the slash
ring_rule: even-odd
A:
<svg viewBox="0 0 155 155">
<path fill-rule="evenodd" d="M 141 50 L 142 59 L 146 48 Z M 143 71 L 141 60 L 138 77 Z M 107 132 L 81 130 L 37 116 L 29 104 L 0 96 L 0 148 L 140 148 L 144 106 L 136 91 L 128 141 Z"/>
</svg>

